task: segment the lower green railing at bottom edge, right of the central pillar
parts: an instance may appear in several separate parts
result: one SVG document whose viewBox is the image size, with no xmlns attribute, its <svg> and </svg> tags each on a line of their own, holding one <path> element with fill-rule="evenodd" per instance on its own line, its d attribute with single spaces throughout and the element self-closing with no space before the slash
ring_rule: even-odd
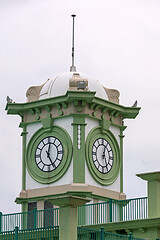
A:
<svg viewBox="0 0 160 240">
<path fill-rule="evenodd" d="M 104 228 L 100 230 L 92 230 L 87 228 L 78 227 L 77 229 L 77 240 L 144 240 L 141 238 L 135 238 L 132 233 L 129 235 L 121 235 L 116 233 L 105 232 Z"/>
</svg>

